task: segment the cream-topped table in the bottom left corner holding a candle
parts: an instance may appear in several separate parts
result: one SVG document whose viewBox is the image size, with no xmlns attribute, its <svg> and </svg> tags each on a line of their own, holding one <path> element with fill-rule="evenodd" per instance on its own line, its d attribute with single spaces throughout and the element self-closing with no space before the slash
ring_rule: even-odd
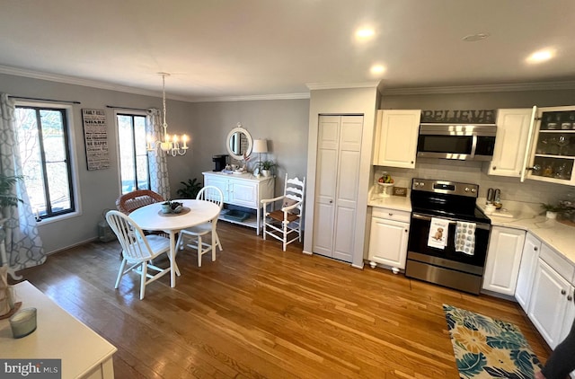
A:
<svg viewBox="0 0 575 379">
<path fill-rule="evenodd" d="M 36 308 L 37 329 L 13 339 L 8 319 L 0 320 L 0 358 L 62 359 L 62 378 L 113 378 L 117 348 L 24 281 L 13 286 L 22 308 Z M 21 309 L 22 309 L 21 308 Z"/>
</svg>

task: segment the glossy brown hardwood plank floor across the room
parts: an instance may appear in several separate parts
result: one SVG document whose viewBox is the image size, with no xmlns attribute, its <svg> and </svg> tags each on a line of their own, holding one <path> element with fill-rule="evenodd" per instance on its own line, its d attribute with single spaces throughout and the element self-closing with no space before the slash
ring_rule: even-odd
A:
<svg viewBox="0 0 575 379">
<path fill-rule="evenodd" d="M 183 251 L 181 277 L 123 278 L 119 244 L 93 242 L 20 273 L 108 339 L 117 378 L 457 378 L 442 304 L 513 322 L 549 350 L 518 304 L 302 254 L 252 229 L 218 223 L 212 262 Z M 167 262 L 166 262 L 167 263 Z"/>
</svg>

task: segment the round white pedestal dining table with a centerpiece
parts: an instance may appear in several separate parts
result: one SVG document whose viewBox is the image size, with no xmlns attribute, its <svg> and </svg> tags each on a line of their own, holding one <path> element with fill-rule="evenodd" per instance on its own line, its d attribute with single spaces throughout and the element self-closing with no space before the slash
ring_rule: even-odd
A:
<svg viewBox="0 0 575 379">
<path fill-rule="evenodd" d="M 189 207 L 190 212 L 182 215 L 163 215 L 162 203 L 150 204 L 146 207 L 137 208 L 129 214 L 130 218 L 144 230 L 163 231 L 170 234 L 170 255 L 174 265 L 170 272 L 170 286 L 176 286 L 175 263 L 176 242 L 175 235 L 182 229 L 207 223 L 219 214 L 219 207 L 204 200 L 173 200 L 183 203 L 183 207 Z M 212 246 L 216 245 L 215 225 L 212 224 Z"/>
</svg>

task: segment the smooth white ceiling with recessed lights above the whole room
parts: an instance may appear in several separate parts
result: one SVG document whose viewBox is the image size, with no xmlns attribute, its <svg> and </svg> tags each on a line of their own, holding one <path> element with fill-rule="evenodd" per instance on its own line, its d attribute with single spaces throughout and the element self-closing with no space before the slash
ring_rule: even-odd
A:
<svg viewBox="0 0 575 379">
<path fill-rule="evenodd" d="M 573 0 L 2 0 L 0 73 L 186 101 L 575 81 Z M 372 40 L 354 33 L 370 26 Z M 488 33 L 485 40 L 465 36 Z M 538 65 L 541 48 L 556 56 Z M 385 66 L 370 74 L 374 64 Z M 380 82 L 381 81 L 381 82 Z M 575 82 L 574 82 L 575 83 Z M 315 87 L 314 87 L 315 86 Z"/>
</svg>

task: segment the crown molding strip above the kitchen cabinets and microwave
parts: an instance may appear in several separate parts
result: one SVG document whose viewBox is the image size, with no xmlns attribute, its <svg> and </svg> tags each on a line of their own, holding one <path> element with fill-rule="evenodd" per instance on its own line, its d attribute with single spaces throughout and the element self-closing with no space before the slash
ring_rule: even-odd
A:
<svg viewBox="0 0 575 379">
<path fill-rule="evenodd" d="M 575 81 L 519 84 L 454 85 L 445 87 L 413 87 L 381 89 L 382 95 L 417 95 L 442 93 L 504 93 L 516 91 L 574 90 Z"/>
</svg>

